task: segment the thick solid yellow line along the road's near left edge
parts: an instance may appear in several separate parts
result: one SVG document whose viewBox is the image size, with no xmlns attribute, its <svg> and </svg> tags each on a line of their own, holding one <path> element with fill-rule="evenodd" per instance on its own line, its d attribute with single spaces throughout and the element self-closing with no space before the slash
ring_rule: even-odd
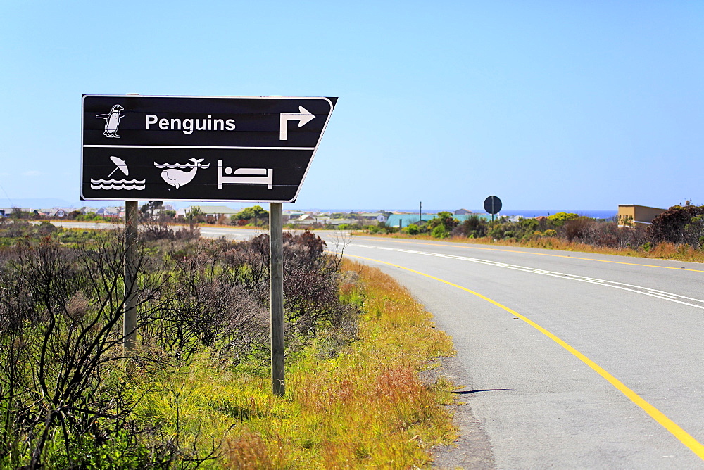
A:
<svg viewBox="0 0 704 470">
<path fill-rule="evenodd" d="M 672 433 L 674 437 L 680 440 L 681 443 L 689 447 L 689 450 L 694 452 L 700 459 L 704 460 L 704 445 L 698 442 L 695 438 L 689 435 L 684 429 L 680 428 L 677 426 L 677 424 L 674 424 L 674 421 L 672 419 L 668 418 L 660 412 L 659 409 L 655 408 L 653 405 L 650 405 L 650 403 L 646 402 L 646 400 L 643 400 L 637 393 L 635 393 L 633 390 L 625 386 L 621 381 L 616 379 L 614 376 L 609 374 L 607 371 L 599 367 L 596 362 L 593 362 L 589 357 L 586 357 L 582 352 L 579 352 L 578 350 L 572 348 L 569 344 L 565 343 L 565 341 L 562 341 L 558 336 L 555 336 L 552 334 L 550 331 L 544 329 L 542 326 L 539 324 L 536 324 L 532 320 L 528 319 L 527 317 L 524 317 L 523 315 L 520 315 L 520 313 L 515 312 L 515 310 L 511 310 L 510 308 L 506 307 L 505 305 L 501 305 L 500 303 L 496 302 L 496 300 L 491 300 L 490 298 L 486 296 L 482 296 L 482 294 L 478 292 L 474 292 L 466 287 L 460 286 L 458 284 L 453 284 L 450 281 L 446 281 L 444 279 L 440 279 L 439 277 L 434 277 L 430 274 L 425 274 L 425 272 L 420 272 L 416 271 L 415 269 L 410 269 L 408 267 L 404 266 L 399 266 L 399 265 L 394 265 L 394 263 L 391 262 L 386 262 L 386 261 L 381 261 L 381 260 L 375 260 L 373 258 L 365 258 L 364 256 L 355 256 L 355 255 L 348 255 L 345 253 L 345 256 L 348 256 L 349 258 L 358 258 L 360 260 L 367 260 L 367 261 L 373 261 L 373 262 L 380 262 L 384 265 L 389 265 L 393 267 L 398 267 L 399 269 L 405 269 L 406 271 L 413 272 L 414 274 L 419 274 L 420 276 L 425 276 L 430 279 L 434 279 L 436 281 L 440 281 L 444 284 L 447 284 L 448 286 L 453 286 L 458 289 L 462 289 L 465 292 L 468 292 L 472 294 L 472 296 L 477 296 L 481 298 L 482 300 L 486 300 L 487 302 L 496 305 L 496 307 L 499 307 L 506 312 L 509 312 L 511 315 L 514 317 L 522 319 L 524 322 L 535 328 L 536 330 L 540 331 L 542 334 L 547 336 L 548 338 L 551 338 L 551 340 L 555 341 L 555 343 L 558 343 L 562 348 L 565 348 L 567 351 L 569 351 L 572 355 L 577 357 L 577 359 L 581 360 L 584 362 L 584 364 L 588 365 L 593 369 L 593 371 L 596 371 L 597 374 L 601 375 L 604 379 L 606 379 L 612 386 L 614 386 L 617 390 L 619 390 L 621 393 L 626 395 L 626 397 L 631 400 L 631 402 L 634 402 L 636 405 L 641 407 L 643 411 L 648 413 L 651 418 L 655 419 L 655 421 L 658 421 L 658 423 L 667 431 Z"/>
</svg>

